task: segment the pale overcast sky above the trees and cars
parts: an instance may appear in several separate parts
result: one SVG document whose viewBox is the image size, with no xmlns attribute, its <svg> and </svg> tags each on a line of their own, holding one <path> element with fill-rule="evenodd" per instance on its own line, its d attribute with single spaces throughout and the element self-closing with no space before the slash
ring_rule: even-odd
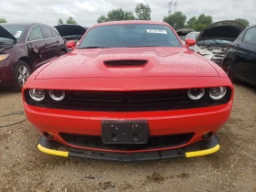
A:
<svg viewBox="0 0 256 192">
<path fill-rule="evenodd" d="M 97 18 L 108 11 L 122 7 L 133 11 L 137 3 L 150 5 L 152 20 L 162 21 L 168 14 L 168 2 L 172 0 L 1 0 L 0 18 L 11 22 L 40 22 L 57 25 L 69 16 L 81 25 L 91 27 Z M 256 0 L 178 0 L 177 11 L 187 19 L 201 13 L 213 16 L 214 21 L 246 18 L 256 24 Z"/>
</svg>

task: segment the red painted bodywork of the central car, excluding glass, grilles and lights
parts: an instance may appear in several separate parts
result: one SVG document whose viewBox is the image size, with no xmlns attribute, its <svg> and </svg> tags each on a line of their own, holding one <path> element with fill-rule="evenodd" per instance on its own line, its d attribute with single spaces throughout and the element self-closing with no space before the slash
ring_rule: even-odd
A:
<svg viewBox="0 0 256 192">
<path fill-rule="evenodd" d="M 99 24 L 96 27 L 133 23 L 167 25 L 151 21 L 122 21 Z M 145 59 L 147 64 L 127 68 L 105 66 L 103 61 L 109 59 Z M 25 99 L 27 89 L 161 91 L 219 86 L 231 89 L 231 99 L 225 104 L 197 109 L 156 112 L 59 110 L 32 106 L 27 104 Z M 189 145 L 201 141 L 204 133 L 216 133 L 229 119 L 233 101 L 233 86 L 219 66 L 185 47 L 75 49 L 60 59 L 37 69 L 27 80 L 23 89 L 23 101 L 28 121 L 33 123 L 40 132 L 53 134 L 54 140 L 61 144 L 72 146 L 59 136 L 59 132 L 100 136 L 103 120 L 146 120 L 149 124 L 150 135 L 195 133 L 193 138 L 184 144 Z M 184 145 L 129 152 L 101 148 L 93 148 L 93 150 L 133 153 L 165 150 Z M 74 147 L 91 149 L 90 147 Z"/>
</svg>

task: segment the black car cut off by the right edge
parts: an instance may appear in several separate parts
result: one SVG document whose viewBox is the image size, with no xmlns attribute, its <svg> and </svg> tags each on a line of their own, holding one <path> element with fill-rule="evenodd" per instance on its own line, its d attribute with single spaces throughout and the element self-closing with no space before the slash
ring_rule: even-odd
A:
<svg viewBox="0 0 256 192">
<path fill-rule="evenodd" d="M 247 27 L 230 45 L 221 67 L 231 80 L 256 86 L 256 26 Z"/>
</svg>

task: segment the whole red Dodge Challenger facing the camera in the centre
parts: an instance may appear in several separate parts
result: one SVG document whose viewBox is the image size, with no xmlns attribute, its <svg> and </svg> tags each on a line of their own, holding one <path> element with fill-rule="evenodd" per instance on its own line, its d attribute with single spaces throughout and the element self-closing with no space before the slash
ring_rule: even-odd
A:
<svg viewBox="0 0 256 192">
<path fill-rule="evenodd" d="M 208 155 L 229 119 L 233 86 L 218 65 L 152 21 L 91 27 L 23 88 L 27 119 L 50 155 L 142 161 Z"/>
</svg>

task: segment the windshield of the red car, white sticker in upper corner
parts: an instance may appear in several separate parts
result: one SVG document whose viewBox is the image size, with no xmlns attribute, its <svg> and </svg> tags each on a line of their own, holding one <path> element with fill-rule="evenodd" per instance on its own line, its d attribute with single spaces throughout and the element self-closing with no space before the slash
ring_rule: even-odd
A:
<svg viewBox="0 0 256 192">
<path fill-rule="evenodd" d="M 182 47 L 170 27 L 129 24 L 92 27 L 80 48 Z"/>
</svg>

